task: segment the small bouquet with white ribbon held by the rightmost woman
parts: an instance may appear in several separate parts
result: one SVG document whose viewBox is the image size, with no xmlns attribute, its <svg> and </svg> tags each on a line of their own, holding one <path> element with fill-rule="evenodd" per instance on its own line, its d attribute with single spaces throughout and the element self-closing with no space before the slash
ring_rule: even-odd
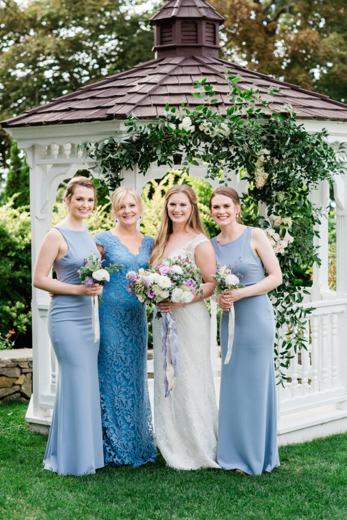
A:
<svg viewBox="0 0 347 520">
<path fill-rule="evenodd" d="M 240 283 L 241 275 L 235 275 L 236 266 L 230 267 L 229 265 L 221 265 L 217 264 L 216 266 L 216 274 L 213 276 L 213 279 L 217 282 L 216 288 L 213 293 L 213 297 L 216 299 L 217 296 L 223 291 L 240 289 L 242 287 L 246 287 L 243 283 Z M 233 342 L 234 342 L 234 330 L 235 330 L 235 310 L 234 305 L 229 309 L 229 323 L 228 323 L 228 349 L 224 360 L 224 365 L 230 360 L 233 350 Z"/>
</svg>

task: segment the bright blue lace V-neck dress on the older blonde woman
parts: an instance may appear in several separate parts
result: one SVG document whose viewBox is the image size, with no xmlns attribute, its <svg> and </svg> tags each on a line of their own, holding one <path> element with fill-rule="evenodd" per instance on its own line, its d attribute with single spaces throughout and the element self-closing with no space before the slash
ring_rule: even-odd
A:
<svg viewBox="0 0 347 520">
<path fill-rule="evenodd" d="M 145 236 L 137 255 L 112 235 L 101 231 L 94 240 L 102 245 L 107 267 L 122 268 L 110 275 L 99 308 L 98 358 L 102 438 L 105 464 L 139 466 L 157 456 L 147 383 L 146 307 L 127 291 L 129 270 L 147 267 L 153 239 Z"/>
</svg>

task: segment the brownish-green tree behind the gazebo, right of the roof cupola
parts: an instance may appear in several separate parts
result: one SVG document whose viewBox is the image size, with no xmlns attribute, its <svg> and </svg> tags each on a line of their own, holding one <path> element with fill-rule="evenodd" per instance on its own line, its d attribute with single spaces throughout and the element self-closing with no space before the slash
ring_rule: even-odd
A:
<svg viewBox="0 0 347 520">
<path fill-rule="evenodd" d="M 346 99 L 345 0 L 210 0 L 225 17 L 224 56 L 248 69 Z M 223 40 L 223 36 L 222 36 Z"/>
</svg>

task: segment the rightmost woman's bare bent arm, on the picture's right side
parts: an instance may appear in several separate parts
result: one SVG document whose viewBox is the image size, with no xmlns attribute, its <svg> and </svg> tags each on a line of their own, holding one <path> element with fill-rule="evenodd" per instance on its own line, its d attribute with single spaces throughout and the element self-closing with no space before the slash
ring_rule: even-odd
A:
<svg viewBox="0 0 347 520">
<path fill-rule="evenodd" d="M 282 283 L 281 268 L 274 250 L 272 249 L 271 243 L 262 229 L 254 228 L 252 230 L 251 247 L 256 251 L 256 254 L 258 254 L 261 261 L 263 262 L 268 276 L 260 282 L 249 285 L 248 287 L 235 289 L 232 291 L 224 291 L 226 297 L 219 297 L 219 301 L 221 301 L 221 303 L 236 302 L 237 300 L 241 300 L 241 298 L 246 298 L 248 296 L 259 296 L 261 294 L 266 294 Z"/>
</svg>

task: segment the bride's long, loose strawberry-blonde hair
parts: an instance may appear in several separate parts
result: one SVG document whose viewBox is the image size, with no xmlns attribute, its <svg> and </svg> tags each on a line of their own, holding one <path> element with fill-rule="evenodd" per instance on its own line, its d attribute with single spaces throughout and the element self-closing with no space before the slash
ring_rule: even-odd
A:
<svg viewBox="0 0 347 520">
<path fill-rule="evenodd" d="M 176 193 L 185 194 L 188 197 L 188 200 L 192 208 L 186 227 L 189 228 L 191 231 L 195 231 L 199 234 L 202 233 L 203 235 L 207 236 L 207 232 L 204 229 L 200 217 L 198 208 L 198 198 L 196 196 L 195 191 L 187 184 L 177 184 L 175 186 L 171 186 L 171 188 L 168 191 L 166 191 L 164 196 L 164 207 L 161 214 L 159 233 L 153 245 L 152 254 L 149 259 L 149 264 L 153 267 L 157 266 L 159 262 L 161 262 L 165 245 L 168 243 L 169 237 L 172 233 L 172 220 L 169 217 L 168 213 L 168 203 L 170 197 L 172 195 L 175 195 Z"/>
</svg>

